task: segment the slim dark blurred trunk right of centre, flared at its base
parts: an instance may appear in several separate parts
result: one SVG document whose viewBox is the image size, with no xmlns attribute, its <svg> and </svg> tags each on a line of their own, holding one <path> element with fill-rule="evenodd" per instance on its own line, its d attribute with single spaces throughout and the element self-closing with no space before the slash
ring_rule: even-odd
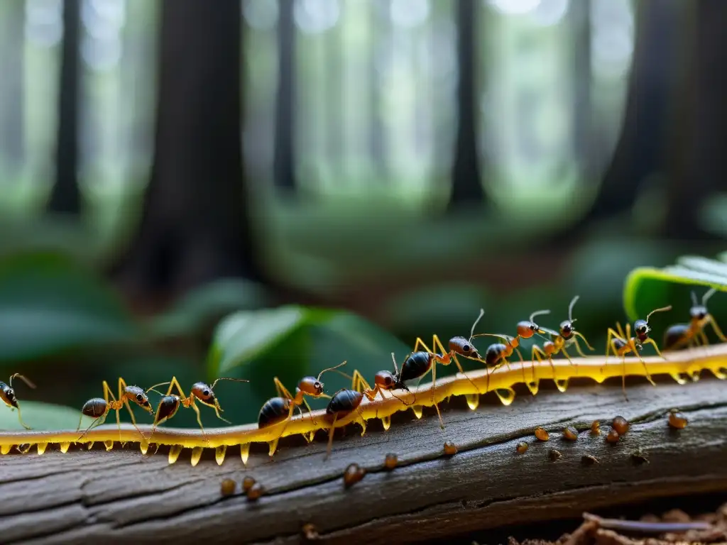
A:
<svg viewBox="0 0 727 545">
<path fill-rule="evenodd" d="M 480 178 L 477 153 L 477 121 L 479 119 L 476 70 L 477 5 L 476 0 L 458 0 L 455 4 L 457 23 L 457 143 L 452 169 L 450 207 L 481 205 L 485 193 Z"/>
</svg>

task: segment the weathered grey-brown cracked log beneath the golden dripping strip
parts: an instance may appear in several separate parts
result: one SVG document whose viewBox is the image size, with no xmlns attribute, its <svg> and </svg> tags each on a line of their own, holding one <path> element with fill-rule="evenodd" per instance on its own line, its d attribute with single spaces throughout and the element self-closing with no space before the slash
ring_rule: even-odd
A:
<svg viewBox="0 0 727 545">
<path fill-rule="evenodd" d="M 407 543 L 578 517 L 625 501 L 727 491 L 727 384 L 658 384 L 630 386 L 628 402 L 615 382 L 520 395 L 509 407 L 484 403 L 488 396 L 476 411 L 453 400 L 443 405 L 444 430 L 431 411 L 421 420 L 409 411 L 388 432 L 372 424 L 364 437 L 356 427 L 337 434 L 328 461 L 322 434 L 310 445 L 282 440 L 273 461 L 266 449 L 254 450 L 247 468 L 233 453 L 222 466 L 206 453 L 191 467 L 189 451 L 169 465 L 164 451 L 143 456 L 135 447 L 9 454 L 0 459 L 0 542 L 292 544 L 310 522 L 326 543 Z M 667 427 L 672 407 L 688 416 L 686 429 Z M 616 415 L 632 427 L 611 445 L 605 437 Z M 600 437 L 582 431 L 575 443 L 561 439 L 566 425 L 586 430 L 595 419 Z M 551 432 L 550 441 L 534 440 L 536 426 Z M 442 456 L 446 440 L 459 447 L 451 458 Z M 522 440 L 530 448 L 518 455 Z M 638 448 L 648 463 L 632 457 Z M 553 449 L 558 461 L 550 461 Z M 393 472 L 382 468 L 387 453 L 401 461 Z M 586 454 L 600 463 L 584 464 Z M 342 472 L 352 462 L 368 474 L 346 490 Z M 244 475 L 267 495 L 249 503 L 238 489 L 223 498 L 222 479 Z"/>
</svg>

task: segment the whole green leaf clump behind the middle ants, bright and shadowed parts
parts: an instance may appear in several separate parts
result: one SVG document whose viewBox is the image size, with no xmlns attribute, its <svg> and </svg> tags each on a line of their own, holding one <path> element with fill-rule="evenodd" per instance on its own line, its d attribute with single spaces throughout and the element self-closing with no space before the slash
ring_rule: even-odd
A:
<svg viewBox="0 0 727 545">
<path fill-rule="evenodd" d="M 246 414 L 254 416 L 275 395 L 273 375 L 294 392 L 303 376 L 317 376 L 344 358 L 348 363 L 341 371 L 347 374 L 355 368 L 367 376 L 393 368 L 391 352 L 401 360 L 409 349 L 351 312 L 298 306 L 245 310 L 217 326 L 207 361 L 208 379 L 230 371 L 250 379 L 250 394 L 244 403 Z M 337 387 L 350 387 L 350 379 L 334 374 L 324 382 L 329 393 Z"/>
</svg>

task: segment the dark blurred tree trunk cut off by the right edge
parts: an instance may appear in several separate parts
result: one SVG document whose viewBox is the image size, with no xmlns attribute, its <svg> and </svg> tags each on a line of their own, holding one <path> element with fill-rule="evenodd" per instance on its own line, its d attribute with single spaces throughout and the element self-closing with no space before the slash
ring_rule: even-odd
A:
<svg viewBox="0 0 727 545">
<path fill-rule="evenodd" d="M 688 46 L 678 57 L 680 92 L 670 150 L 667 217 L 670 238 L 710 238 L 699 221 L 705 199 L 723 190 L 727 177 L 727 2 L 688 3 Z M 664 52 L 662 52 L 664 55 Z"/>
</svg>

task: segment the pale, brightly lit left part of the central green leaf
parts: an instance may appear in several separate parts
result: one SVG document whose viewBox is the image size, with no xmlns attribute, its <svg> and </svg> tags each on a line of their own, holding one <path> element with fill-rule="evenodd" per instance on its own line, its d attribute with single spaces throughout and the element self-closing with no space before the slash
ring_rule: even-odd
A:
<svg viewBox="0 0 727 545">
<path fill-rule="evenodd" d="M 210 365 L 218 373 L 248 363 L 300 328 L 307 318 L 301 307 L 241 310 L 217 326 Z"/>
</svg>

